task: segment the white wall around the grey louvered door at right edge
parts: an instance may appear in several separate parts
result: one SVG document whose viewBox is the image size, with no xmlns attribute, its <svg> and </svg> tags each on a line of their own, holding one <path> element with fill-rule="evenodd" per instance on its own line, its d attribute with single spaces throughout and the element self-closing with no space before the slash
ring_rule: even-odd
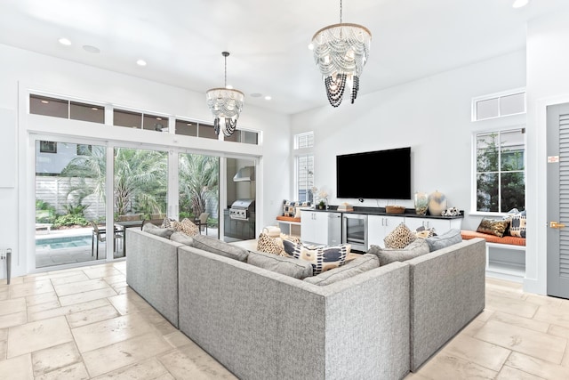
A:
<svg viewBox="0 0 569 380">
<path fill-rule="evenodd" d="M 533 20 L 527 28 L 526 291 L 547 292 L 546 107 L 569 102 L 569 12 Z"/>
</svg>

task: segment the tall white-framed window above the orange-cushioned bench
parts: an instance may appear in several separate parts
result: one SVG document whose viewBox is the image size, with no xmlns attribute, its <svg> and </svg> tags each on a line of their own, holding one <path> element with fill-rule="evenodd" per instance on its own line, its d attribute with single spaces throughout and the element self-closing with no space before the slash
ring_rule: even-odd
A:
<svg viewBox="0 0 569 380">
<path fill-rule="evenodd" d="M 476 134 L 476 211 L 525 209 L 525 128 Z"/>
</svg>

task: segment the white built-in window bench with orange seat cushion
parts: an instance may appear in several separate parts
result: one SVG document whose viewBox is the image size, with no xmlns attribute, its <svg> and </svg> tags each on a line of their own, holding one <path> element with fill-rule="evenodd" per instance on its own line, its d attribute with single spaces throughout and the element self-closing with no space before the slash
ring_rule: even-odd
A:
<svg viewBox="0 0 569 380">
<path fill-rule="evenodd" d="M 486 274 L 499 279 L 522 282 L 525 277 L 525 238 L 499 238 L 474 230 L 461 230 L 462 239 L 486 240 Z"/>
</svg>

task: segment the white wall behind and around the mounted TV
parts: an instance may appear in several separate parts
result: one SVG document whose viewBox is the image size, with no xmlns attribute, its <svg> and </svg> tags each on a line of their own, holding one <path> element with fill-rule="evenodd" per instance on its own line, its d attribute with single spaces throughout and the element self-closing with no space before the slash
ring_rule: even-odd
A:
<svg viewBox="0 0 569 380">
<path fill-rule="evenodd" d="M 476 230 L 480 216 L 470 216 L 471 142 L 474 131 L 521 125 L 525 117 L 470 121 L 473 97 L 525 86 L 525 52 L 510 53 L 405 85 L 358 95 L 354 104 L 342 102 L 312 109 L 292 118 L 293 133 L 314 130 L 315 184 L 330 194 L 330 203 L 385 206 L 388 200 L 335 198 L 335 157 L 338 154 L 411 146 L 412 192 L 445 193 L 448 206 L 465 210 L 463 228 Z M 365 89 L 365 72 L 360 81 Z M 389 186 L 381 167 L 354 186 Z M 389 200 L 393 203 L 394 200 Z M 413 207 L 413 200 L 397 200 Z"/>
</svg>

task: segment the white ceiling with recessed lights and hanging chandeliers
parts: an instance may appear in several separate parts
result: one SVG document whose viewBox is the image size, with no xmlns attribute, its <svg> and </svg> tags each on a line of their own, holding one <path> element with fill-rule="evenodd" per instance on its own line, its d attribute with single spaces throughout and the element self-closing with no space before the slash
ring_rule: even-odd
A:
<svg viewBox="0 0 569 380">
<path fill-rule="evenodd" d="M 513 1 L 345 1 L 342 21 L 373 36 L 359 95 L 524 49 L 527 20 L 569 6 Z M 308 45 L 337 22 L 340 2 L 329 0 L 2 0 L 0 44 L 199 93 L 223 85 L 228 51 L 228 85 L 245 93 L 244 112 L 294 114 L 327 104 Z"/>
</svg>

